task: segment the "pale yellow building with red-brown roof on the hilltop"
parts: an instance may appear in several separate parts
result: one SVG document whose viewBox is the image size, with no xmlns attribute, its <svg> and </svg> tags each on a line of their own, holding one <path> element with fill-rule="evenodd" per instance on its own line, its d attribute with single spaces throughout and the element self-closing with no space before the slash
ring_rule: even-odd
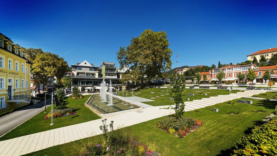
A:
<svg viewBox="0 0 277 156">
<path fill-rule="evenodd" d="M 247 60 L 252 61 L 254 59 L 254 57 L 256 57 L 258 62 L 260 62 L 262 55 L 264 55 L 264 57 L 266 57 L 266 61 L 268 61 L 271 58 L 271 56 L 273 56 L 276 53 L 277 53 L 277 48 L 269 48 L 269 49 L 265 49 L 265 50 L 259 50 L 250 55 L 247 55 Z"/>
</svg>

